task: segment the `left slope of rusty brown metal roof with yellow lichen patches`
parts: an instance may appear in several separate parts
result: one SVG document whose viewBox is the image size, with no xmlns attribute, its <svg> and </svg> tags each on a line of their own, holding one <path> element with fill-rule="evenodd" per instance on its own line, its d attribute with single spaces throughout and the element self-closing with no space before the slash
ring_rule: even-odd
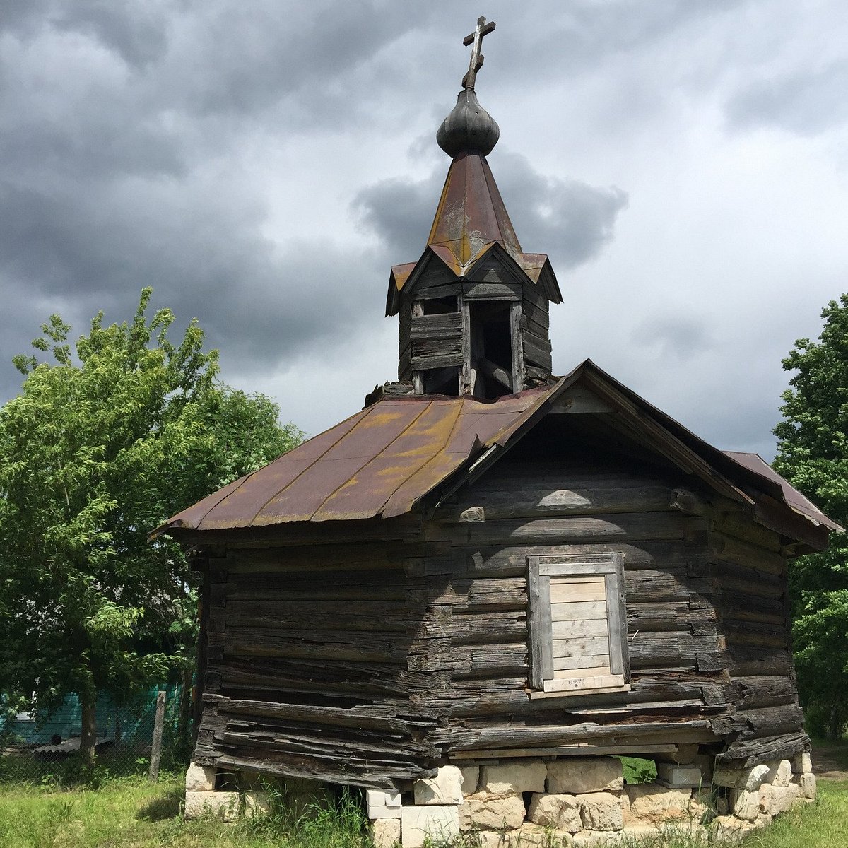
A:
<svg viewBox="0 0 848 848">
<path fill-rule="evenodd" d="M 171 518 L 165 528 L 265 527 L 403 515 L 548 389 L 485 402 L 384 399 Z"/>
</svg>

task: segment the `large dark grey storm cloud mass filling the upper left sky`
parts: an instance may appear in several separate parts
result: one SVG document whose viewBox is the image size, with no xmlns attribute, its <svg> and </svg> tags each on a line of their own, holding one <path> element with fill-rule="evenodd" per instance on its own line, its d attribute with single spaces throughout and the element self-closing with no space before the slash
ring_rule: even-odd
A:
<svg viewBox="0 0 848 848">
<path fill-rule="evenodd" d="M 243 370 L 271 370 L 380 315 L 382 291 L 351 284 L 373 275 L 368 256 L 317 235 L 271 242 L 265 187 L 231 167 L 257 129 L 285 134 L 287 114 L 259 111 L 298 86 L 335 86 L 298 96 L 298 120 L 343 128 L 357 108 L 349 70 L 430 14 L 324 5 L 4 4 L 3 397 L 19 384 L 11 356 L 47 315 L 75 332 L 100 308 L 120 321 L 147 285 L 182 324 L 197 315 Z"/>
</svg>

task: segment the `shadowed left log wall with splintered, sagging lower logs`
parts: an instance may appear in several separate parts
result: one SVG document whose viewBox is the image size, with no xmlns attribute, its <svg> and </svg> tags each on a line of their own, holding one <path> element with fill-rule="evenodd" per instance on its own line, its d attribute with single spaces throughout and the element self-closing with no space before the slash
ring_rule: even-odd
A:
<svg viewBox="0 0 848 848">
<path fill-rule="evenodd" d="M 431 722 L 410 710 L 426 682 L 408 667 L 416 627 L 398 551 L 315 544 L 219 561 L 196 762 L 384 786 L 427 772 Z"/>
</svg>

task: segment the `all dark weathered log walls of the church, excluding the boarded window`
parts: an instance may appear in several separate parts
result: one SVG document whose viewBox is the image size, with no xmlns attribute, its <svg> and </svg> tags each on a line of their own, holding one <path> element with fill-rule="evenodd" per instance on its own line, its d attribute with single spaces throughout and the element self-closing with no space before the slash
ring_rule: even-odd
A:
<svg viewBox="0 0 848 848">
<path fill-rule="evenodd" d="M 782 539 L 682 472 L 508 456 L 410 527 L 209 560 L 197 762 L 402 788 L 448 758 L 808 741 Z M 630 691 L 528 697 L 527 556 L 617 551 Z"/>
</svg>

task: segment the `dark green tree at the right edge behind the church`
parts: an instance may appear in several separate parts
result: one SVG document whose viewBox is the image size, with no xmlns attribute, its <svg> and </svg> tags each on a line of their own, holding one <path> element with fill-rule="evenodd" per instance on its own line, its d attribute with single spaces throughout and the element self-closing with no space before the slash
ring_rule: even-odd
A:
<svg viewBox="0 0 848 848">
<path fill-rule="evenodd" d="M 817 342 L 801 338 L 783 361 L 795 371 L 775 427 L 775 469 L 848 526 L 848 294 L 823 310 Z M 836 738 L 848 720 L 848 538 L 789 569 L 801 702 L 812 726 Z"/>
</svg>

